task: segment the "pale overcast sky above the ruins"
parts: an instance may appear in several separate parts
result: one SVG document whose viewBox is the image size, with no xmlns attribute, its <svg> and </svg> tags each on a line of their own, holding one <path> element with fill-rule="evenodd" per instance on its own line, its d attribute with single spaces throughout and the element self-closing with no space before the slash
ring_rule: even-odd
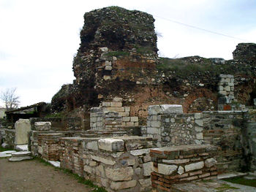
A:
<svg viewBox="0 0 256 192">
<path fill-rule="evenodd" d="M 232 59 L 239 42 L 256 42 L 255 0 L 0 0 L 0 91 L 17 88 L 21 106 L 50 102 L 75 79 L 84 13 L 113 5 L 153 15 L 165 57 Z"/>
</svg>

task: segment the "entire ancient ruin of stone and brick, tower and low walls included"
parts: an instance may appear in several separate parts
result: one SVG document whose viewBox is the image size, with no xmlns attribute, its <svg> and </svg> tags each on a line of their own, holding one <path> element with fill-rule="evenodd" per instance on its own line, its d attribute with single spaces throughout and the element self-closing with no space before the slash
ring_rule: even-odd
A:
<svg viewBox="0 0 256 192">
<path fill-rule="evenodd" d="M 53 96 L 52 116 L 2 128 L 4 143 L 107 191 L 256 171 L 255 44 L 238 44 L 230 61 L 159 58 L 151 15 L 107 7 L 84 20 L 73 84 Z"/>
</svg>

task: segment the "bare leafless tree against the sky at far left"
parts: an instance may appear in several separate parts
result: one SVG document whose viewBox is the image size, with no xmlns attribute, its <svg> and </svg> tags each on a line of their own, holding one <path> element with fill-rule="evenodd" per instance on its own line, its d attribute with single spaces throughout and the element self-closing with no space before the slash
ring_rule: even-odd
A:
<svg viewBox="0 0 256 192">
<path fill-rule="evenodd" d="M 7 110 L 17 109 L 20 103 L 19 96 L 15 95 L 16 88 L 7 88 L 1 91 L 0 99 L 4 102 Z"/>
</svg>

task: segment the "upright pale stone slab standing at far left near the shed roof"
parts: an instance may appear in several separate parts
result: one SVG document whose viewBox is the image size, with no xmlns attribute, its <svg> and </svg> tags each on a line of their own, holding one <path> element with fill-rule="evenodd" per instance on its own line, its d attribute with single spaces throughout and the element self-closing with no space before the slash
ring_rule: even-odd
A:
<svg viewBox="0 0 256 192">
<path fill-rule="evenodd" d="M 26 145 L 29 143 L 29 131 L 31 125 L 29 119 L 19 119 L 15 123 L 15 145 Z"/>
</svg>

